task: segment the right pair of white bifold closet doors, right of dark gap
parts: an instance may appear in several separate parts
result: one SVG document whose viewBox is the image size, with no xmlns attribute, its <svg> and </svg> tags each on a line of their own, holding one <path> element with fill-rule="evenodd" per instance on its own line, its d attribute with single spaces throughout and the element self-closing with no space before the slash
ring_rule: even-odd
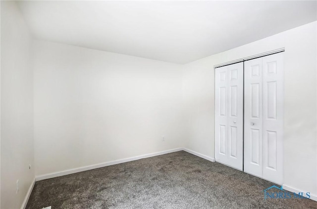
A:
<svg viewBox="0 0 317 209">
<path fill-rule="evenodd" d="M 283 53 L 245 62 L 244 170 L 283 183 Z"/>
</svg>

